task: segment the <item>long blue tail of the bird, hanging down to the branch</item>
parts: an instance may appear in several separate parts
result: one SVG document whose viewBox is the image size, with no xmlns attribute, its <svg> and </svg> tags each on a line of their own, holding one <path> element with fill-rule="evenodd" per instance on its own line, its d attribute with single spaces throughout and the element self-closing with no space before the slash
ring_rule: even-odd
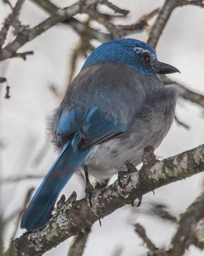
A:
<svg viewBox="0 0 204 256">
<path fill-rule="evenodd" d="M 89 153 L 89 150 L 78 151 L 78 141 L 80 141 L 80 137 L 77 132 L 71 143 L 64 145 L 61 154 L 33 196 L 22 218 L 21 228 L 36 230 L 45 225 L 62 188 L 78 167 L 82 165 Z"/>
</svg>

